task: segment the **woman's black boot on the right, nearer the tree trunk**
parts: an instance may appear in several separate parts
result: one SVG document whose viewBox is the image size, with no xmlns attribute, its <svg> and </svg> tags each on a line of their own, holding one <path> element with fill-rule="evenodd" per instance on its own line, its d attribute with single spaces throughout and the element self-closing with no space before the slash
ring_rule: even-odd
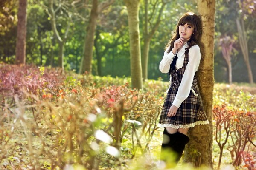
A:
<svg viewBox="0 0 256 170">
<path fill-rule="evenodd" d="M 183 133 L 177 132 L 177 140 L 173 144 L 173 150 L 177 153 L 177 157 L 175 159 L 176 163 L 180 161 L 183 150 L 185 149 L 186 144 L 189 142 L 189 137 L 184 135 Z"/>
</svg>

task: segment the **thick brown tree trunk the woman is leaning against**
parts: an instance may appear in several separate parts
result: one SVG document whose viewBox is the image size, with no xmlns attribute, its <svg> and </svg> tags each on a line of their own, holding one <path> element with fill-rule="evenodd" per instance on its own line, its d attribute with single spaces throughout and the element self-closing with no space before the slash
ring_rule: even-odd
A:
<svg viewBox="0 0 256 170">
<path fill-rule="evenodd" d="M 206 165 L 212 167 L 215 0 L 198 0 L 198 14 L 201 16 L 203 23 L 203 35 L 200 45 L 201 64 L 196 77 L 203 99 L 204 110 L 210 123 L 208 125 L 197 125 L 189 130 L 190 141 L 185 150 L 185 161 L 192 162 L 195 166 Z M 197 150 L 197 153 L 189 152 L 191 149 Z"/>
</svg>

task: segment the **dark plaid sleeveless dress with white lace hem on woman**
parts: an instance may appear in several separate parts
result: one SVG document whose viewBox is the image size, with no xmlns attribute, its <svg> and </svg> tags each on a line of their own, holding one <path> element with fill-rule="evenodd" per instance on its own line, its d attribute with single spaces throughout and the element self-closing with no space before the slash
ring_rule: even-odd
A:
<svg viewBox="0 0 256 170">
<path fill-rule="evenodd" d="M 176 54 L 177 55 L 177 54 Z M 172 102 L 175 99 L 181 79 L 186 69 L 186 65 L 189 62 L 188 55 L 185 55 L 182 68 L 176 70 L 170 68 L 170 76 L 172 76 L 172 82 L 169 86 L 169 90 L 166 94 L 163 108 L 160 115 L 159 126 L 160 127 L 172 127 L 178 128 L 189 128 L 195 125 L 208 124 L 206 113 L 202 105 L 202 99 L 199 93 L 198 82 L 194 76 L 192 87 L 189 96 L 181 103 L 175 116 L 167 116 Z M 173 64 L 173 63 L 172 63 Z M 171 65 L 172 65 L 171 64 Z"/>
</svg>

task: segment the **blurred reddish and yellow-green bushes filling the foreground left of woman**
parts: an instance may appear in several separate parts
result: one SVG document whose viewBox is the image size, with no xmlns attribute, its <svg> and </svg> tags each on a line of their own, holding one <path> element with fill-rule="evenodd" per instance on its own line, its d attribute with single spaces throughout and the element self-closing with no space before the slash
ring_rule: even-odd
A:
<svg viewBox="0 0 256 170">
<path fill-rule="evenodd" d="M 83 87 L 71 76 L 54 77 L 51 85 L 39 69 L 13 67 L 26 75 L 14 77 L 9 89 L 21 83 L 12 95 L 2 91 L 0 167 L 64 169 L 72 164 L 97 169 L 150 154 L 160 114 L 160 101 L 150 92 L 131 90 L 128 83 Z M 3 77 L 12 72 L 2 68 Z M 27 75 L 34 81 L 26 81 Z M 5 87 L 8 83 L 2 82 Z M 6 97 L 12 97 L 12 105 Z"/>
</svg>

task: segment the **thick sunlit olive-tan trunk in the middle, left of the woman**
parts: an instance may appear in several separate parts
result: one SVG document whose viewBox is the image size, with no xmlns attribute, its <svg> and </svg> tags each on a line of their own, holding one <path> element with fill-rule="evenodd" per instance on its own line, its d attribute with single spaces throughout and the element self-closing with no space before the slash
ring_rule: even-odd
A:
<svg viewBox="0 0 256 170">
<path fill-rule="evenodd" d="M 140 0 L 124 0 L 124 2 L 128 11 L 131 57 L 131 87 L 143 89 L 139 29 Z"/>
</svg>

